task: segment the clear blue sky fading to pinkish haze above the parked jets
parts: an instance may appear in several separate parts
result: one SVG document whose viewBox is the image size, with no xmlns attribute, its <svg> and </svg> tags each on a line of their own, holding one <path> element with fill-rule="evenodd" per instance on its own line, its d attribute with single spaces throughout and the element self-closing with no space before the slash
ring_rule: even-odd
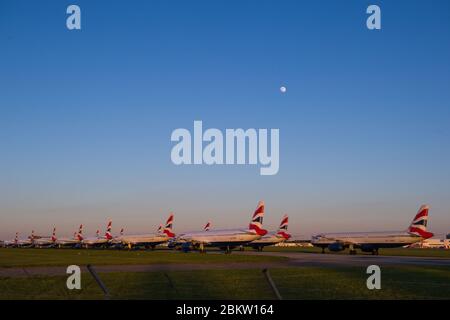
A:
<svg viewBox="0 0 450 320">
<path fill-rule="evenodd" d="M 246 226 L 260 199 L 296 236 L 401 230 L 423 203 L 450 232 L 449 57 L 445 0 L 2 0 L 0 239 Z M 194 120 L 279 128 L 279 173 L 173 165 Z"/>
</svg>

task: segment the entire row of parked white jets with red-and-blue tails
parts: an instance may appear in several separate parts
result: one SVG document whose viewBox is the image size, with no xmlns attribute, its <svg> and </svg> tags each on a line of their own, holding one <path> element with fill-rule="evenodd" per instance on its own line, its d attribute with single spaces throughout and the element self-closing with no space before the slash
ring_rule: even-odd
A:
<svg viewBox="0 0 450 320">
<path fill-rule="evenodd" d="M 358 233 L 330 233 L 313 236 L 311 243 L 314 246 L 330 251 L 342 251 L 349 249 L 350 254 L 355 254 L 356 249 L 363 252 L 378 254 L 380 248 L 394 248 L 411 245 L 416 242 L 431 238 L 433 234 L 427 231 L 428 206 L 421 206 L 410 226 L 405 231 L 397 232 L 358 232 Z M 249 246 L 261 251 L 265 246 L 284 242 L 291 238 L 288 233 L 288 216 L 285 215 L 280 226 L 275 232 L 267 232 L 263 228 L 264 202 L 260 201 L 252 215 L 247 228 L 211 230 L 208 222 L 202 231 L 175 235 L 172 231 L 174 215 L 171 213 L 164 226 L 160 225 L 154 234 L 124 235 L 123 229 L 118 236 L 111 233 L 112 222 L 109 221 L 103 236 L 97 230 L 95 237 L 83 236 L 83 225 L 72 238 L 58 238 L 56 228 L 53 228 L 51 237 L 38 237 L 34 232 L 27 239 L 19 239 L 16 233 L 15 239 L 0 243 L 3 247 L 72 247 L 72 248 L 138 248 L 154 249 L 157 245 L 168 243 L 170 248 L 180 247 L 184 251 L 198 250 L 204 252 L 206 247 L 218 247 L 230 253 L 233 248 Z"/>
</svg>

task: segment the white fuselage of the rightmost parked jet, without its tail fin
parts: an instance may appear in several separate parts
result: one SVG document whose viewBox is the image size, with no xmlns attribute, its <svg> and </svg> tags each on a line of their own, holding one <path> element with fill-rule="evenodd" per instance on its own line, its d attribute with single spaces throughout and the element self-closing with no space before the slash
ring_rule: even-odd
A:
<svg viewBox="0 0 450 320">
<path fill-rule="evenodd" d="M 315 246 L 326 247 L 333 243 L 374 245 L 378 247 L 401 247 L 423 238 L 404 231 L 398 232 L 359 232 L 359 233 L 329 233 L 312 237 L 311 243 Z"/>
</svg>

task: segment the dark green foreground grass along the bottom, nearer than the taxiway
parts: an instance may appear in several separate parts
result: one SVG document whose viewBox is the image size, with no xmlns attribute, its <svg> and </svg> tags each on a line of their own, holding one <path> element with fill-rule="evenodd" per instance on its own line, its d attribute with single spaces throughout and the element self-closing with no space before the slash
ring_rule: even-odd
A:
<svg viewBox="0 0 450 320">
<path fill-rule="evenodd" d="M 285 299 L 450 299 L 450 268 L 384 267 L 381 290 L 368 290 L 365 268 L 279 268 L 270 273 Z M 167 276 L 169 279 L 167 278 Z M 101 273 L 113 299 L 274 299 L 261 270 Z M 0 279 L 0 299 L 103 299 L 82 274 L 82 290 L 66 277 Z"/>
</svg>

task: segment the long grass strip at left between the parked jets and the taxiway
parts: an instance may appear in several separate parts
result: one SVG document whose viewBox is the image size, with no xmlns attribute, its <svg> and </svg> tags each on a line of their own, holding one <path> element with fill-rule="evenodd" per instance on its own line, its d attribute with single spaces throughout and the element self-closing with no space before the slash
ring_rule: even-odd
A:
<svg viewBox="0 0 450 320">
<path fill-rule="evenodd" d="M 0 268 L 125 265 L 166 263 L 276 262 L 285 257 L 243 256 L 226 254 L 182 253 L 179 251 L 72 250 L 72 249 L 0 249 Z"/>
</svg>

